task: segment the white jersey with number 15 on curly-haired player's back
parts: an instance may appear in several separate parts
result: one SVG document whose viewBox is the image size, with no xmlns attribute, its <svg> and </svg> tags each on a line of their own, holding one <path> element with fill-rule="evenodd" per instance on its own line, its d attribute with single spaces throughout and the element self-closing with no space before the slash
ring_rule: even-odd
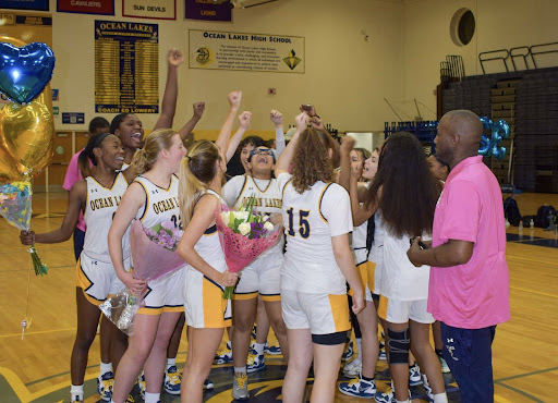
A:
<svg viewBox="0 0 558 403">
<path fill-rule="evenodd" d="M 316 182 L 304 193 L 290 183 L 290 174 L 278 176 L 287 252 L 281 288 L 307 293 L 344 294 L 345 279 L 337 265 L 331 237 L 353 229 L 347 191 L 336 183 Z"/>
</svg>

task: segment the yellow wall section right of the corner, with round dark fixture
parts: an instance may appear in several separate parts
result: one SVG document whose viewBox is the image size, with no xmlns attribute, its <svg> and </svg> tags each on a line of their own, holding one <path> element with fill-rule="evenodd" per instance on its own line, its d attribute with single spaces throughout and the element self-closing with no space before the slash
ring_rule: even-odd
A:
<svg viewBox="0 0 558 403">
<path fill-rule="evenodd" d="M 451 19 L 461 8 L 473 11 L 476 21 L 473 39 L 462 47 L 454 45 L 449 35 Z M 440 82 L 440 62 L 447 54 L 462 56 L 466 75 L 474 75 L 482 74 L 480 52 L 558 40 L 556 0 L 410 0 L 404 14 L 404 98 L 416 98 L 433 111 L 433 90 Z M 550 65 L 558 65 L 557 57 L 546 64 Z M 492 63 L 485 69 L 487 73 L 505 71 L 498 66 Z M 434 112 L 424 112 L 425 119 L 436 118 Z"/>
</svg>

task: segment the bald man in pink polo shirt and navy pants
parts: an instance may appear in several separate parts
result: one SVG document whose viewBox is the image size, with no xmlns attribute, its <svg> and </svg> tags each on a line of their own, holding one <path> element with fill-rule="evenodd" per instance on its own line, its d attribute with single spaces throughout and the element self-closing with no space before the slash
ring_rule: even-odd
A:
<svg viewBox="0 0 558 403">
<path fill-rule="evenodd" d="M 408 252 L 429 265 L 428 312 L 440 321 L 444 356 L 462 402 L 493 402 L 492 343 L 509 320 L 509 276 L 500 186 L 477 156 L 483 125 L 466 110 L 446 113 L 436 155 L 450 174 L 434 215 L 432 247 Z"/>
</svg>

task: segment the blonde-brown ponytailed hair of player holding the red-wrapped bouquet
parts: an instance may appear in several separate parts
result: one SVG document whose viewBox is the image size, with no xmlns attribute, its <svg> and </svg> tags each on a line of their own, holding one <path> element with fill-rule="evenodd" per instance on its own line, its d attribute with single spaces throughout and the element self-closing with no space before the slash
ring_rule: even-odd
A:
<svg viewBox="0 0 558 403">
<path fill-rule="evenodd" d="M 197 198 L 217 174 L 216 162 L 221 159 L 219 148 L 208 141 L 194 143 L 180 162 L 179 203 L 184 230 L 192 220 Z"/>
</svg>

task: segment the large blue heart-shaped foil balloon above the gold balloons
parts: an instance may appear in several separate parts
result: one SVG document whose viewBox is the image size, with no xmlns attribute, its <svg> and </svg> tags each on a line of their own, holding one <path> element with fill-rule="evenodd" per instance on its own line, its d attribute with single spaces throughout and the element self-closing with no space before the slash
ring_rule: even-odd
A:
<svg viewBox="0 0 558 403">
<path fill-rule="evenodd" d="M 52 78 L 54 53 L 41 42 L 17 48 L 0 42 L 0 91 L 17 103 L 36 98 Z"/>
</svg>

